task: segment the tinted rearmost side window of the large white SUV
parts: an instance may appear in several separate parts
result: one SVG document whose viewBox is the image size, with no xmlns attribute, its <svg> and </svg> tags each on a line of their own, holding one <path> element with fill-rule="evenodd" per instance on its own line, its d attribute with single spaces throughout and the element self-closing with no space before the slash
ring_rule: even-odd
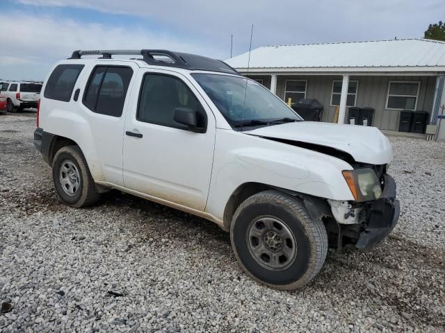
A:
<svg viewBox="0 0 445 333">
<path fill-rule="evenodd" d="M 69 102 L 83 65 L 58 65 L 49 76 L 43 96 L 45 99 Z"/>
</svg>

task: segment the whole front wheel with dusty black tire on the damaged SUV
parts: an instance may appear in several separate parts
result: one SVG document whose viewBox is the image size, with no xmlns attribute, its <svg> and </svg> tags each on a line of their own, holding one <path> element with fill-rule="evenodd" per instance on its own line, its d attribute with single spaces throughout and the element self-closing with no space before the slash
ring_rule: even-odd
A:
<svg viewBox="0 0 445 333">
<path fill-rule="evenodd" d="M 286 251 L 293 251 L 289 257 L 284 255 L 283 260 L 280 259 L 282 257 L 279 256 L 280 252 L 276 255 L 270 252 L 270 244 L 266 241 L 266 233 L 269 234 L 268 227 L 265 227 L 266 231 L 252 229 L 258 226 L 254 223 L 259 223 L 261 226 L 262 221 L 268 219 L 277 221 L 276 226 L 281 225 L 281 228 L 291 235 L 286 239 L 285 237 L 288 237 L 286 233 L 280 234 L 283 232 L 282 229 L 273 230 L 275 222 L 272 223 L 271 231 L 279 234 L 278 239 L 284 239 L 282 248 L 289 246 Z M 258 254 L 255 257 L 254 252 L 258 253 L 258 250 L 255 250 L 252 244 L 261 242 L 261 237 L 250 238 L 252 235 L 250 230 L 264 232 L 262 248 L 266 248 L 264 251 L 268 251 L 272 257 L 277 257 L 277 260 L 272 263 L 273 259 L 269 257 L 270 263 L 264 261 L 264 258 L 268 257 L 266 253 L 264 253 L 266 257 Z M 314 221 L 299 198 L 275 190 L 260 192 L 241 203 L 232 219 L 230 240 L 236 259 L 248 275 L 275 289 L 291 290 L 307 284 L 320 271 L 327 254 L 327 233 L 323 222 Z M 288 241 L 289 244 L 286 245 Z M 277 248 L 273 250 L 280 251 Z M 259 253 L 261 251 L 259 250 Z M 282 265 L 282 267 L 268 267 L 272 264 Z"/>
</svg>

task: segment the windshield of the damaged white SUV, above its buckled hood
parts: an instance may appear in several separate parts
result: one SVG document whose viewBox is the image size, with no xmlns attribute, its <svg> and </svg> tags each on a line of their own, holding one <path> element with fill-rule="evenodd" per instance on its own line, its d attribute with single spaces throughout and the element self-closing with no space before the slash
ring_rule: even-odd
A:
<svg viewBox="0 0 445 333">
<path fill-rule="evenodd" d="M 232 127 L 267 126 L 279 119 L 302 120 L 275 94 L 254 80 L 240 76 L 192 74 Z"/>
</svg>

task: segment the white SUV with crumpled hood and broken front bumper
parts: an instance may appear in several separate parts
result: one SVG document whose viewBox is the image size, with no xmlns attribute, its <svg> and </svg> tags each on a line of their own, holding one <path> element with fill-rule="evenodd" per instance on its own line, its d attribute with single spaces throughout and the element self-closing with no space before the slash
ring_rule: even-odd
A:
<svg viewBox="0 0 445 333">
<path fill-rule="evenodd" d="M 67 205 L 113 188 L 202 216 L 277 289 L 314 278 L 328 246 L 371 248 L 400 212 L 377 128 L 302 121 L 225 62 L 186 53 L 75 51 L 45 80 L 34 139 Z"/>
</svg>

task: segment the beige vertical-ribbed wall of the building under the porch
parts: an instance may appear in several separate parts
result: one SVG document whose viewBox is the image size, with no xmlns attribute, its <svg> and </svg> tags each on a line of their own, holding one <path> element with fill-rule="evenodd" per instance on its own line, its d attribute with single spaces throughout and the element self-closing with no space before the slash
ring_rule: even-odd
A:
<svg viewBox="0 0 445 333">
<path fill-rule="evenodd" d="M 253 77 L 253 76 L 250 76 Z M 254 76 L 255 78 L 257 76 Z M 266 78 L 267 76 L 261 76 Z M 334 121 L 335 107 L 330 106 L 332 81 L 341 80 L 341 76 L 278 76 L 277 96 L 284 99 L 286 80 L 307 80 L 307 99 L 317 99 L 324 106 L 323 121 Z M 432 101 L 436 84 L 436 76 L 350 76 L 350 80 L 358 80 L 356 106 L 375 109 L 373 126 L 382 130 L 398 130 L 399 110 L 387 110 L 387 92 L 389 81 L 420 81 L 417 110 L 432 112 Z M 264 80 L 270 87 L 270 76 Z M 348 112 L 346 112 L 346 116 Z"/>
</svg>

